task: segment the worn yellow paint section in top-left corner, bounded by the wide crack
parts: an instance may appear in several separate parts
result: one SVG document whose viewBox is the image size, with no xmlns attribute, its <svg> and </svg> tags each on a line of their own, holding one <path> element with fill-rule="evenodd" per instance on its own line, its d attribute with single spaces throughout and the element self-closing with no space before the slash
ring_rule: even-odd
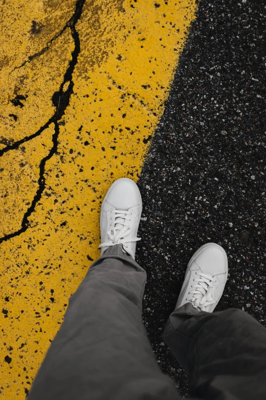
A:
<svg viewBox="0 0 266 400">
<path fill-rule="evenodd" d="M 0 149 L 36 132 L 54 113 L 51 96 L 74 48 L 69 28 L 50 42 L 73 14 L 73 0 L 20 3 L 6 1 L 0 9 Z M 35 20 L 37 32 L 32 33 Z M 43 55 L 28 61 L 46 47 Z M 11 103 L 17 95 L 26 96 L 23 107 Z"/>
</svg>

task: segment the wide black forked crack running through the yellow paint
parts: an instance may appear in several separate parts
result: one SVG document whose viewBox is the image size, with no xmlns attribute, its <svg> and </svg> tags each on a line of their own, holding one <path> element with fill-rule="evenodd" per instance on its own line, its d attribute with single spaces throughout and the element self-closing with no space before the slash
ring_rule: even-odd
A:
<svg viewBox="0 0 266 400">
<path fill-rule="evenodd" d="M 51 123 L 55 124 L 55 133 L 52 135 L 52 143 L 53 146 L 49 151 L 49 154 L 44 157 L 41 162 L 40 162 L 40 176 L 38 179 L 38 190 L 34 196 L 34 199 L 32 201 L 32 204 L 30 205 L 30 207 L 28 208 L 28 210 L 26 210 L 23 218 L 22 218 L 22 222 L 21 222 L 21 228 L 18 229 L 17 231 L 13 232 L 13 233 L 9 233 L 7 235 L 5 235 L 3 238 L 0 238 L 0 244 L 2 242 L 6 242 L 11 238 L 14 238 L 16 236 L 19 236 L 20 233 L 25 232 L 26 229 L 28 229 L 29 227 L 29 217 L 31 216 L 31 214 L 33 213 L 36 204 L 38 203 L 38 201 L 41 199 L 42 193 L 45 189 L 45 178 L 44 178 L 44 172 L 45 172 L 45 163 L 47 160 L 49 160 L 56 152 L 57 152 L 57 148 L 58 148 L 58 136 L 59 136 L 59 124 L 58 122 L 61 120 L 62 115 L 64 115 L 65 110 L 69 104 L 70 101 L 70 96 L 73 93 L 73 86 L 74 83 L 72 81 L 72 75 L 74 72 L 74 68 L 75 65 L 77 63 L 77 58 L 78 58 L 78 54 L 81 50 L 81 45 L 80 45 L 80 41 L 79 41 L 79 35 L 78 32 L 76 31 L 75 25 L 76 22 L 78 21 L 78 19 L 81 17 L 82 15 L 82 10 L 83 10 L 83 6 L 85 4 L 86 0 L 77 0 L 76 2 L 76 6 L 75 6 L 75 12 L 72 15 L 72 17 L 69 19 L 69 21 L 67 22 L 68 26 L 67 28 L 71 29 L 71 36 L 72 39 L 74 40 L 74 50 L 72 52 L 72 60 L 69 62 L 68 68 L 66 70 L 66 73 L 64 75 L 64 80 L 60 85 L 60 88 L 58 91 L 56 91 L 54 93 L 54 95 L 52 96 L 52 103 L 54 104 L 54 106 L 56 107 L 56 112 L 55 114 L 46 122 L 45 125 L 43 125 L 37 132 L 35 132 L 33 135 L 28 136 L 26 138 L 23 138 L 21 140 L 19 140 L 18 142 L 9 145 L 7 147 L 5 147 L 4 149 L 2 149 L 0 151 L 0 156 L 2 156 L 4 153 L 6 153 L 9 150 L 12 149 L 17 149 L 19 147 L 19 145 L 21 145 L 24 142 L 28 142 L 28 140 L 40 135 L 44 129 L 48 128 L 48 126 Z M 67 90 L 64 92 L 63 88 L 66 82 L 69 82 L 68 88 Z"/>
</svg>

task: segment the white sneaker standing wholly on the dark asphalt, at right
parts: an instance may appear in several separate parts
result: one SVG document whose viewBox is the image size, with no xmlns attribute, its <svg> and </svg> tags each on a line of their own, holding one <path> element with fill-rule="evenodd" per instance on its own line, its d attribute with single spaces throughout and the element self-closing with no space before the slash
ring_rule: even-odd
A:
<svg viewBox="0 0 266 400">
<path fill-rule="evenodd" d="M 190 259 L 176 308 L 191 302 L 200 311 L 212 313 L 228 276 L 227 255 L 216 243 L 201 246 Z"/>
</svg>

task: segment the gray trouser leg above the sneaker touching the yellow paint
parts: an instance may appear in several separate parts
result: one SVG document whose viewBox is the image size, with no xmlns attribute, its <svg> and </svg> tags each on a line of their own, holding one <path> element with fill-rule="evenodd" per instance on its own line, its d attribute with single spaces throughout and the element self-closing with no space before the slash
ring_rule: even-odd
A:
<svg viewBox="0 0 266 400">
<path fill-rule="evenodd" d="M 30 400 L 177 399 L 155 361 L 141 317 L 146 272 L 110 247 L 71 296 Z"/>
</svg>

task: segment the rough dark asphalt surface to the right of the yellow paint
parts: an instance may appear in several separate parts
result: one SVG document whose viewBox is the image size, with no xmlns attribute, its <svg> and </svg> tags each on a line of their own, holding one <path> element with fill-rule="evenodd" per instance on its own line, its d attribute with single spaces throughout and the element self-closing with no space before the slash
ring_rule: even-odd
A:
<svg viewBox="0 0 266 400">
<path fill-rule="evenodd" d="M 161 335 L 199 246 L 228 254 L 217 310 L 240 308 L 266 325 L 264 39 L 263 2 L 200 2 L 139 180 L 144 321 L 181 395 L 188 380 Z"/>
</svg>

